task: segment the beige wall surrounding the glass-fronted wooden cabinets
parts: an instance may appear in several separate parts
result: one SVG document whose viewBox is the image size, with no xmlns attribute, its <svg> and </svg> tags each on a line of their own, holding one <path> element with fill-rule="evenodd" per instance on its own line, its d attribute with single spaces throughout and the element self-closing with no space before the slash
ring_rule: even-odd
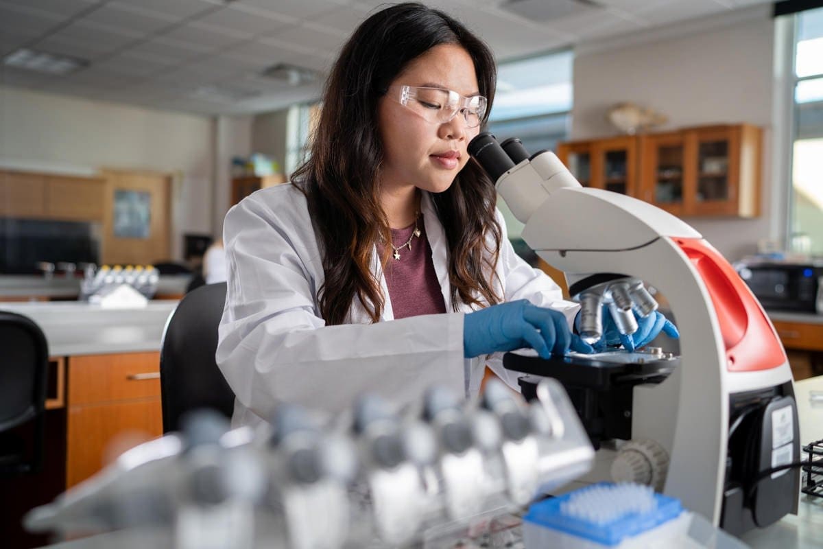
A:
<svg viewBox="0 0 823 549">
<path fill-rule="evenodd" d="M 775 227 L 783 221 L 774 216 L 785 218 L 785 202 L 772 200 L 772 185 L 788 193 L 787 178 L 772 170 L 773 50 L 774 20 L 765 7 L 581 44 L 574 58 L 571 138 L 616 135 L 606 113 L 623 101 L 665 114 L 661 130 L 743 122 L 764 128 L 762 215 L 686 220 L 727 258 L 751 254 L 758 239 L 780 236 Z"/>
</svg>

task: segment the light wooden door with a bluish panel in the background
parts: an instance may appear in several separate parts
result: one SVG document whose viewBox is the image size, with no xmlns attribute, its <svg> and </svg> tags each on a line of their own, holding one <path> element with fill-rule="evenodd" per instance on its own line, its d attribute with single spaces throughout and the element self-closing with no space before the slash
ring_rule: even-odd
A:
<svg viewBox="0 0 823 549">
<path fill-rule="evenodd" d="M 106 170 L 100 257 L 108 264 L 151 264 L 170 258 L 170 177 Z"/>
</svg>

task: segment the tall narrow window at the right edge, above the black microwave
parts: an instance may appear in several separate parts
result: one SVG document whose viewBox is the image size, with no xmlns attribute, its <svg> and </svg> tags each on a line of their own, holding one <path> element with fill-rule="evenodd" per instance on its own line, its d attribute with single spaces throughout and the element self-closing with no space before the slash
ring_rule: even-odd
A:
<svg viewBox="0 0 823 549">
<path fill-rule="evenodd" d="M 796 17 L 788 244 L 823 255 L 823 8 Z"/>
</svg>

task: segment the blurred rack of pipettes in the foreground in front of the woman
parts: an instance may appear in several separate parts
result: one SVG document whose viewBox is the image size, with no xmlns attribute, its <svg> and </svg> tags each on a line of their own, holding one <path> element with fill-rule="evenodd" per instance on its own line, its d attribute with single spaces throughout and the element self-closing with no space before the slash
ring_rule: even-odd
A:
<svg viewBox="0 0 823 549">
<path fill-rule="evenodd" d="M 419 414 L 365 395 L 351 421 L 288 404 L 258 430 L 226 430 L 216 412 L 191 416 L 25 524 L 155 528 L 187 548 L 454 546 L 579 477 L 594 456 L 556 381 L 538 384 L 530 403 L 500 382 L 488 387 L 479 404 L 432 388 Z"/>
</svg>

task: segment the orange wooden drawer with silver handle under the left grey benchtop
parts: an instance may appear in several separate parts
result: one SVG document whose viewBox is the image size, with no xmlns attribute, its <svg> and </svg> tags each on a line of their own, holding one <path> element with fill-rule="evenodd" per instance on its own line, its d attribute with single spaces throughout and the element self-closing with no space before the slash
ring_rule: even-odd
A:
<svg viewBox="0 0 823 549">
<path fill-rule="evenodd" d="M 68 358 L 68 405 L 160 396 L 160 353 Z"/>
</svg>

